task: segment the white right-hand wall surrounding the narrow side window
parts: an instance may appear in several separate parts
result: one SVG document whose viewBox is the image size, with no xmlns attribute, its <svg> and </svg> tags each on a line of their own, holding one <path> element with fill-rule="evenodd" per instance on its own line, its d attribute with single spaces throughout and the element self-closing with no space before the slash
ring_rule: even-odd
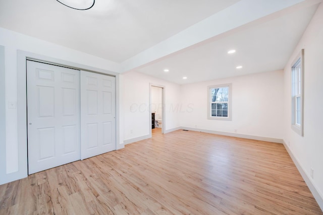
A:
<svg viewBox="0 0 323 215">
<path fill-rule="evenodd" d="M 304 48 L 304 137 L 291 129 L 291 64 Z M 323 208 L 323 4 L 284 69 L 284 141 L 320 195 Z M 314 177 L 310 177 L 310 169 Z"/>
</svg>

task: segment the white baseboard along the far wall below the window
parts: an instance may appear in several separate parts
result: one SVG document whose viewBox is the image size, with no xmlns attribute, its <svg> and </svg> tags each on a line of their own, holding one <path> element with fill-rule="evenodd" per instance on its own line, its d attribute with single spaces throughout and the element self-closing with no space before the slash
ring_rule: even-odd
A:
<svg viewBox="0 0 323 215">
<path fill-rule="evenodd" d="M 267 141 L 267 142 L 276 142 L 278 144 L 283 144 L 283 139 L 272 138 L 272 137 L 254 136 L 254 135 L 248 135 L 248 134 L 206 130 L 206 129 L 199 129 L 199 128 L 191 128 L 191 127 L 181 127 L 181 129 L 200 131 L 205 133 L 214 133 L 214 134 L 225 135 L 225 136 L 234 136 L 234 137 L 247 138 L 247 139 L 255 139 L 255 140 L 261 140 L 261 141 Z"/>
</svg>

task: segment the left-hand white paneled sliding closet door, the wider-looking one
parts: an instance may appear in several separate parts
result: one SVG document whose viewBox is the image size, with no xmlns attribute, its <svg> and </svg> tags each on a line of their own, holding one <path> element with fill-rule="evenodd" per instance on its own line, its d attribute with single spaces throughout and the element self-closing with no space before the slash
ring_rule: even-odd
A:
<svg viewBox="0 0 323 215">
<path fill-rule="evenodd" d="M 80 71 L 27 60 L 28 173 L 80 160 Z"/>
</svg>

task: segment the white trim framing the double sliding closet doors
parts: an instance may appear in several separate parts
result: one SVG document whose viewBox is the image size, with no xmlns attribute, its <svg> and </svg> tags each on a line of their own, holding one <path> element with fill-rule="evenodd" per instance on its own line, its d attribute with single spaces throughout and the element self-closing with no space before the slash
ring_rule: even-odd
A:
<svg viewBox="0 0 323 215">
<path fill-rule="evenodd" d="M 18 112 L 18 171 L 5 176 L 5 181 L 14 181 L 28 176 L 27 170 L 27 98 L 26 98 L 26 59 L 32 58 L 40 61 L 55 62 L 67 67 L 79 68 L 82 70 L 96 71 L 106 75 L 116 77 L 116 144 L 117 150 L 124 148 L 123 142 L 120 142 L 120 127 L 119 127 L 119 74 L 113 71 L 96 68 L 84 64 L 70 62 L 62 59 L 48 57 L 40 54 L 35 54 L 27 51 L 17 51 L 17 112 Z"/>
</svg>

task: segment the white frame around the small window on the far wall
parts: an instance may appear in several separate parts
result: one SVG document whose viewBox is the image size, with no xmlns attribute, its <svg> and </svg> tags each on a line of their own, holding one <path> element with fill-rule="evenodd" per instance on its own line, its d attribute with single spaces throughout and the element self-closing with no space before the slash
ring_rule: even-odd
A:
<svg viewBox="0 0 323 215">
<path fill-rule="evenodd" d="M 214 88 L 223 88 L 228 87 L 228 116 L 212 116 L 211 104 L 214 103 L 211 101 L 211 89 Z M 216 120 L 232 120 L 232 84 L 223 84 L 223 85 L 213 85 L 207 87 L 207 119 L 216 119 Z"/>
</svg>

